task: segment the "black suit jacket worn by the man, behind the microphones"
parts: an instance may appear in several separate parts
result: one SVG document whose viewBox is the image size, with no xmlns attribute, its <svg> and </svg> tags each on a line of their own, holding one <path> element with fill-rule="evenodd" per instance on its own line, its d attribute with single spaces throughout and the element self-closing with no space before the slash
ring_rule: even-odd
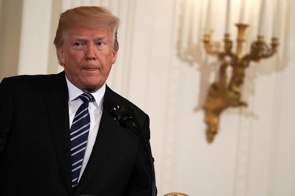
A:
<svg viewBox="0 0 295 196">
<path fill-rule="evenodd" d="M 106 86 L 105 99 L 132 104 Z M 132 104 L 133 105 L 133 104 Z M 135 106 L 150 138 L 149 118 Z M 64 72 L 14 76 L 0 84 L 0 195 L 150 195 L 143 143 L 104 109 L 75 190 L 71 186 L 68 88 Z"/>
</svg>

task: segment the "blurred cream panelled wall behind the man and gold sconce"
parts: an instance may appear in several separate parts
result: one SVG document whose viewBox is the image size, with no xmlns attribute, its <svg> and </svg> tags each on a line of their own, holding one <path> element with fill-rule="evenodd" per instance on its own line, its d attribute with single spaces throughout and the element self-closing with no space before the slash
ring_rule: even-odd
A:
<svg viewBox="0 0 295 196">
<path fill-rule="evenodd" d="M 242 0 L 231 2 L 237 38 Z M 261 1 L 245 1 L 243 53 L 257 39 Z M 66 9 L 105 6 L 121 19 L 119 52 L 107 84 L 150 116 L 158 195 L 295 195 L 295 1 L 281 0 L 278 52 L 251 62 L 240 92 L 248 107 L 227 108 L 213 143 L 205 137 L 202 105 L 218 78 L 218 60 L 202 42 L 208 0 L 0 0 L 0 80 L 51 74 L 53 40 Z M 211 1 L 212 40 L 222 41 L 227 0 Z M 265 5 L 271 42 L 273 10 Z M 235 47 L 235 44 L 234 44 Z M 1 96 L 1 95 L 0 95 Z"/>
</svg>

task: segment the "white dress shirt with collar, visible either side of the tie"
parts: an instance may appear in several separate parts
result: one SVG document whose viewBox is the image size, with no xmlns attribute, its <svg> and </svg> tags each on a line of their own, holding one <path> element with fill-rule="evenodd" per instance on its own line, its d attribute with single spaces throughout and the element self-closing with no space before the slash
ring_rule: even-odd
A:
<svg viewBox="0 0 295 196">
<path fill-rule="evenodd" d="M 65 77 L 68 85 L 68 101 L 69 101 L 69 117 L 70 117 L 70 129 L 72 126 L 72 122 L 74 119 L 74 116 L 80 107 L 80 105 L 83 103 L 83 101 L 79 98 L 79 96 L 83 93 L 79 88 L 74 86 L 67 77 Z M 99 128 L 99 123 L 101 119 L 101 114 L 102 114 L 102 109 L 103 109 L 103 98 L 104 98 L 104 93 L 106 91 L 106 84 L 104 85 L 95 93 L 91 93 L 93 95 L 95 100 L 92 100 L 92 102 L 89 103 L 88 110 L 89 110 L 89 115 L 90 115 L 90 130 L 89 130 L 89 135 L 88 135 L 88 141 L 86 145 L 86 150 L 83 158 L 83 163 L 82 167 L 80 170 L 78 182 L 82 176 L 82 173 L 88 163 L 90 154 L 92 152 L 92 148 L 96 139 L 96 135 L 98 132 Z"/>
</svg>

